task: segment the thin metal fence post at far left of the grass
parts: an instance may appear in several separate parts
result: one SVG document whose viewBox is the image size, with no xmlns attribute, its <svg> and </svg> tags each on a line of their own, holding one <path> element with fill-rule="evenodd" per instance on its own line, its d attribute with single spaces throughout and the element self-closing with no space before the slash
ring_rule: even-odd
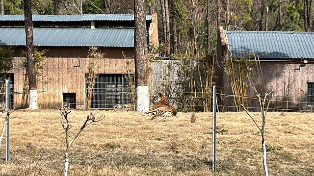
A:
<svg viewBox="0 0 314 176">
<path fill-rule="evenodd" d="M 9 79 L 5 79 L 5 115 L 6 126 L 5 126 L 5 161 L 9 162 Z"/>
</svg>

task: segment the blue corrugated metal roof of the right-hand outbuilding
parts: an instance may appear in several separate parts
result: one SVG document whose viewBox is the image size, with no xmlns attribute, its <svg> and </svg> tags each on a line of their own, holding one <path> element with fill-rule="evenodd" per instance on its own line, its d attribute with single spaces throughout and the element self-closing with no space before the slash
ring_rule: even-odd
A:
<svg viewBox="0 0 314 176">
<path fill-rule="evenodd" d="M 259 54 L 264 59 L 314 59 L 314 32 L 226 31 L 234 56 Z"/>
</svg>

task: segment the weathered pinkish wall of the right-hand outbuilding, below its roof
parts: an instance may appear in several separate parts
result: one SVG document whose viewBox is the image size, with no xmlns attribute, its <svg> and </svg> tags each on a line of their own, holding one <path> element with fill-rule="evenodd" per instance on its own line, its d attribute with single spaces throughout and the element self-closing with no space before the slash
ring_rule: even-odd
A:
<svg viewBox="0 0 314 176">
<path fill-rule="evenodd" d="M 251 72 L 253 84 L 258 92 L 262 92 L 263 83 L 261 76 L 259 76 L 256 67 L 252 67 L 254 69 Z M 314 82 L 314 63 L 300 67 L 300 61 L 261 62 L 261 68 L 266 92 L 274 90 L 274 101 L 271 104 L 271 108 L 276 108 L 277 110 L 287 109 L 287 101 L 291 101 L 288 102 L 288 109 L 308 109 L 306 103 L 307 83 Z M 224 94 L 233 95 L 227 73 L 224 73 Z M 251 83 L 249 83 L 247 95 L 256 95 Z M 233 106 L 233 98 L 225 98 L 224 104 Z M 248 106 L 259 107 L 259 104 L 257 100 L 248 99 Z M 252 108 L 251 110 L 257 109 Z"/>
</svg>

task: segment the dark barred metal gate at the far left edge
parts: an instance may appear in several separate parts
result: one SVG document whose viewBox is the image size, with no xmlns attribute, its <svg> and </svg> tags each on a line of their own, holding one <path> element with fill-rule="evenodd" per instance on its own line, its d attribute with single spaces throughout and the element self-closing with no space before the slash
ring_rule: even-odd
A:
<svg viewBox="0 0 314 176">
<path fill-rule="evenodd" d="M 9 79 L 10 84 L 10 95 L 9 95 L 9 108 L 13 109 L 13 90 L 14 90 L 14 75 L 8 74 L 6 75 L 6 78 L 3 77 L 3 75 L 0 75 L 0 109 L 5 109 L 5 79 Z"/>
</svg>

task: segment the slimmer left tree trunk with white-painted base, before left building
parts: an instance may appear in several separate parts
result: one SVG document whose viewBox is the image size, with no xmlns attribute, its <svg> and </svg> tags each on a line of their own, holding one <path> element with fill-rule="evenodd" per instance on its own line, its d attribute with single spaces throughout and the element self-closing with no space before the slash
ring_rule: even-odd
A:
<svg viewBox="0 0 314 176">
<path fill-rule="evenodd" d="M 25 32 L 26 32 L 26 60 L 29 87 L 29 109 L 38 109 L 37 77 L 35 69 L 33 22 L 31 18 L 30 0 L 24 0 Z"/>
</svg>

